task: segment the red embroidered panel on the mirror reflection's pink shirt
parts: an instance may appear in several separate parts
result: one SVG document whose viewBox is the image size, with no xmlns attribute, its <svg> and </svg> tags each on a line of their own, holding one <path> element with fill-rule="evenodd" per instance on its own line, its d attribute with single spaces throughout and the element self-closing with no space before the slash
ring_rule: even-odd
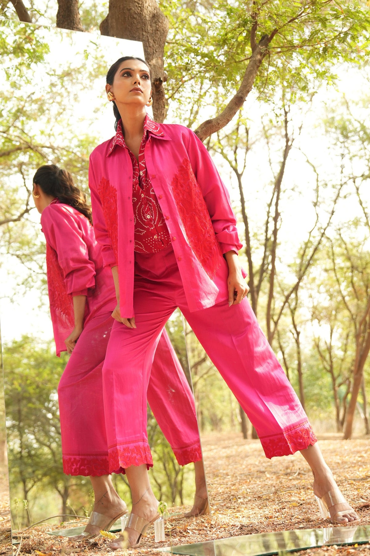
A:
<svg viewBox="0 0 370 556">
<path fill-rule="evenodd" d="M 54 310 L 60 324 L 74 327 L 74 311 L 72 296 L 67 294 L 62 267 L 59 265 L 57 253 L 46 244 L 46 267 L 50 310 Z"/>
</svg>

